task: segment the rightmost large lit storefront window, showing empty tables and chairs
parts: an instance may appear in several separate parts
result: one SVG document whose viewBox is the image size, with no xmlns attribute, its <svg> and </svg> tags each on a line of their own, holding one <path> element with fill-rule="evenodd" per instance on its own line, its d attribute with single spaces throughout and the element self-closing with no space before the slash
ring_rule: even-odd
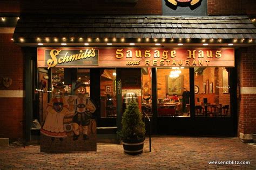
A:
<svg viewBox="0 0 256 170">
<path fill-rule="evenodd" d="M 194 68 L 195 116 L 230 116 L 230 86 L 225 67 Z"/>
</svg>

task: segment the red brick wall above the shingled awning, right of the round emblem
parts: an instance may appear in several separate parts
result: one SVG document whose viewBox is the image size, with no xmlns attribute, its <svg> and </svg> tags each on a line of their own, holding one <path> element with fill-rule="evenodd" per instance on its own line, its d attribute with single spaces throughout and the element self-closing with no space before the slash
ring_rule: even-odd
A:
<svg viewBox="0 0 256 170">
<path fill-rule="evenodd" d="M 208 0 L 208 15 L 256 15 L 255 0 Z"/>
</svg>

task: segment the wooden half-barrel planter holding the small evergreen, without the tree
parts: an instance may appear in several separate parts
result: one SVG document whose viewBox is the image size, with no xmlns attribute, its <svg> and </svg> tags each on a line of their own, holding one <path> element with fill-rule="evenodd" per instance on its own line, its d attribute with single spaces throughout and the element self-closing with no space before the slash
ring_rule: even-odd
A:
<svg viewBox="0 0 256 170">
<path fill-rule="evenodd" d="M 131 142 L 123 140 L 124 152 L 127 154 L 140 154 L 143 152 L 144 140 Z"/>
</svg>

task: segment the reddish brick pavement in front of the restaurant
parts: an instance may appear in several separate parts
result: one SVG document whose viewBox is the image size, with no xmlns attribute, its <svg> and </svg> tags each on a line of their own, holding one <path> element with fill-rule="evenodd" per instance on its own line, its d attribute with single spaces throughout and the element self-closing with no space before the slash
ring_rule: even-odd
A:
<svg viewBox="0 0 256 170">
<path fill-rule="evenodd" d="M 250 161 L 250 165 L 209 165 L 208 161 Z M 144 152 L 127 155 L 122 145 L 97 144 L 97 152 L 40 153 L 40 146 L 0 149 L 0 169 L 168 169 L 168 168 L 256 168 L 256 146 L 241 143 L 238 138 L 152 137 Z"/>
</svg>

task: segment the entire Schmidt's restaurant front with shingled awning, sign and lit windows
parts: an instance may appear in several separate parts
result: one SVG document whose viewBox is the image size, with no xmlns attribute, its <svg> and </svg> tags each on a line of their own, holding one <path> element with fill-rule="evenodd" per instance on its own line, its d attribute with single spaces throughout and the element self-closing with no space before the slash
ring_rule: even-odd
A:
<svg viewBox="0 0 256 170">
<path fill-rule="evenodd" d="M 17 2 L 2 12 L 1 136 L 31 140 L 58 83 L 69 103 L 82 82 L 97 133 L 116 135 L 134 97 L 154 134 L 252 141 L 256 7 L 227 2 Z"/>
</svg>

